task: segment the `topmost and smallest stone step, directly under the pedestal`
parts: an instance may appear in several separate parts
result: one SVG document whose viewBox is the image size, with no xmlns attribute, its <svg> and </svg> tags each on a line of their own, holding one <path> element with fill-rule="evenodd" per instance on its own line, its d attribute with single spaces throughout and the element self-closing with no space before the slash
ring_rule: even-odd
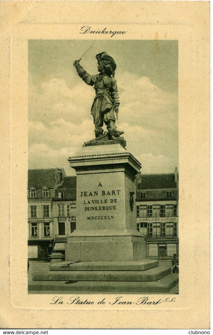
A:
<svg viewBox="0 0 213 335">
<path fill-rule="evenodd" d="M 94 271 L 94 270 L 113 270 L 113 271 L 144 271 L 159 265 L 157 260 L 142 259 L 139 261 L 92 261 L 92 262 L 61 262 L 50 264 L 51 271 Z"/>
</svg>

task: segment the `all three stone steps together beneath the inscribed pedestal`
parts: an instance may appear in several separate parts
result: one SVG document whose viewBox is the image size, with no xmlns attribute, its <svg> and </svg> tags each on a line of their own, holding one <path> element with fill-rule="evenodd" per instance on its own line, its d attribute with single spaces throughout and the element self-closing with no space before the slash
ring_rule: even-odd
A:
<svg viewBox="0 0 213 335">
<path fill-rule="evenodd" d="M 171 268 L 156 260 L 61 262 L 33 275 L 29 290 L 70 292 L 169 292 L 178 282 Z M 48 285 L 47 285 L 48 283 Z M 61 283 L 61 284 L 60 284 Z M 49 288 L 48 288 L 49 287 Z"/>
</svg>

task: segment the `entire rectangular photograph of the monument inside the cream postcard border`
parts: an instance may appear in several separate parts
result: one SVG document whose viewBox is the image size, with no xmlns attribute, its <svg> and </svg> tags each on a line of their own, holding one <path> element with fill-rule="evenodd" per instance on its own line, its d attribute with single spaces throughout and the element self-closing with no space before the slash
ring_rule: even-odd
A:
<svg viewBox="0 0 213 335">
<path fill-rule="evenodd" d="M 28 293 L 178 294 L 178 42 L 29 40 L 28 65 Z"/>
</svg>

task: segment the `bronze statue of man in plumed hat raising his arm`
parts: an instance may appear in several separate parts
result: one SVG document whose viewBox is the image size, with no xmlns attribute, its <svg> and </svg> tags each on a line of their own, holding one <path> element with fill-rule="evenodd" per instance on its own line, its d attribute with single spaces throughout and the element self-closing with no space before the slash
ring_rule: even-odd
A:
<svg viewBox="0 0 213 335">
<path fill-rule="evenodd" d="M 115 115 L 118 113 L 119 107 L 119 95 L 117 88 L 117 81 L 115 79 L 116 63 L 114 59 L 105 52 L 101 52 L 96 56 L 98 62 L 99 74 L 90 75 L 87 73 L 79 61 L 74 61 L 73 65 L 80 78 L 87 85 L 94 85 L 95 98 L 91 108 L 91 114 L 93 115 L 95 125 L 95 137 L 103 134 L 103 122 L 106 124 L 106 128 L 109 132 L 110 139 L 117 139 L 120 136 L 120 132 L 116 130 Z"/>
</svg>

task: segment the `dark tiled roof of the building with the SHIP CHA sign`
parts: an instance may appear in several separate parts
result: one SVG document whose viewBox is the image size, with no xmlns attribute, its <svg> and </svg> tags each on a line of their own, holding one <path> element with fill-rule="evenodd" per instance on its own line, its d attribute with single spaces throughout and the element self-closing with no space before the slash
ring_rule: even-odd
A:
<svg viewBox="0 0 213 335">
<path fill-rule="evenodd" d="M 76 176 L 65 176 L 61 184 L 55 190 L 55 199 L 60 199 L 58 194 L 63 192 L 63 199 L 76 199 Z"/>
</svg>

